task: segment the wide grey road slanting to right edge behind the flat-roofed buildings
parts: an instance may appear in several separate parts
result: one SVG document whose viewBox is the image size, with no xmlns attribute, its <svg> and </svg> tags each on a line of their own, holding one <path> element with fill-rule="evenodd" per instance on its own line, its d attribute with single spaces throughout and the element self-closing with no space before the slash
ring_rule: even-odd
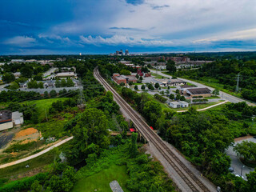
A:
<svg viewBox="0 0 256 192">
<path fill-rule="evenodd" d="M 170 75 L 168 74 L 163 74 L 161 71 L 158 71 L 158 70 L 150 70 L 151 72 L 155 73 L 155 74 L 160 74 L 162 76 L 165 76 L 166 78 L 171 78 Z M 208 89 L 210 90 L 214 90 L 214 88 L 210 87 L 210 86 L 205 86 L 201 83 L 198 83 L 198 82 L 193 82 L 191 80 L 188 80 L 186 78 L 178 78 L 178 79 L 182 79 L 183 81 L 186 81 L 186 82 L 190 82 L 192 84 L 194 84 L 195 86 L 198 86 L 198 87 L 207 87 Z M 250 106 L 256 106 L 254 103 L 252 102 L 247 102 L 246 100 L 243 100 L 242 98 L 237 98 L 237 97 L 234 97 L 233 95 L 230 95 L 230 94 L 226 94 L 222 91 L 219 92 L 220 96 L 222 98 L 225 98 L 226 100 L 228 100 L 229 102 L 246 102 L 248 105 Z"/>
</svg>

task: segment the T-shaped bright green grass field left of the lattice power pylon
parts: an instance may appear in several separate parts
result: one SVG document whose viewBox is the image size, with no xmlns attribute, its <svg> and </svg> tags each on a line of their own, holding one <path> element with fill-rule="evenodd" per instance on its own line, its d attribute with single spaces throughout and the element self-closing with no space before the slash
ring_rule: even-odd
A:
<svg viewBox="0 0 256 192">
<path fill-rule="evenodd" d="M 30 102 L 22 102 L 22 103 L 35 104 L 38 107 L 39 122 L 41 122 L 42 119 L 46 117 L 46 113 L 49 114 L 49 108 L 53 102 L 64 101 L 66 99 L 67 98 L 48 98 L 48 99 L 34 100 Z"/>
</svg>

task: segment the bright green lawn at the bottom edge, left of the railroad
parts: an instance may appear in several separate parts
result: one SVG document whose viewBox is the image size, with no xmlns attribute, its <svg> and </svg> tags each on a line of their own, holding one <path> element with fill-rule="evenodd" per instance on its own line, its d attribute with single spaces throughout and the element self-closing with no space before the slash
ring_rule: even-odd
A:
<svg viewBox="0 0 256 192">
<path fill-rule="evenodd" d="M 117 180 L 122 190 L 128 192 L 126 188 L 126 180 L 129 175 L 126 174 L 126 166 L 110 166 L 106 170 L 102 170 L 97 174 L 93 174 L 87 178 L 82 178 L 75 183 L 73 192 L 91 192 L 102 191 L 112 192 L 110 182 Z"/>
</svg>

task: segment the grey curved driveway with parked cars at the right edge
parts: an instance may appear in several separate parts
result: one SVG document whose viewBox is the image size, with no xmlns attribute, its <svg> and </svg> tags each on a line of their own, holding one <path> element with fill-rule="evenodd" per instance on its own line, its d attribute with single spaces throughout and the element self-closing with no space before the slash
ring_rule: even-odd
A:
<svg viewBox="0 0 256 192">
<path fill-rule="evenodd" d="M 246 141 L 246 140 L 256 143 L 256 138 L 245 138 L 245 139 L 239 140 L 238 142 L 234 142 L 234 144 L 238 144 L 238 143 L 241 143 L 242 141 Z M 226 150 L 226 154 L 229 155 L 231 158 L 231 167 L 234 168 L 234 174 L 241 175 L 241 171 L 242 171 L 242 176 L 247 180 L 246 174 L 250 174 L 250 171 L 254 171 L 254 168 L 251 168 L 249 166 L 245 166 L 244 164 L 242 164 L 239 157 L 234 152 L 233 148 L 234 148 L 233 146 L 230 146 Z M 245 167 L 242 169 L 242 166 L 245 166 Z"/>
</svg>

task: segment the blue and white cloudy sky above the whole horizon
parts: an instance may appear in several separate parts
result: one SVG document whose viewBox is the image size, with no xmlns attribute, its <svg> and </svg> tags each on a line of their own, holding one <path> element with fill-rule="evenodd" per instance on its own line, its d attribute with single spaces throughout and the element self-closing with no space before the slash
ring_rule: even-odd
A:
<svg viewBox="0 0 256 192">
<path fill-rule="evenodd" d="M 1 0 L 0 54 L 256 50 L 255 0 Z"/>
</svg>

